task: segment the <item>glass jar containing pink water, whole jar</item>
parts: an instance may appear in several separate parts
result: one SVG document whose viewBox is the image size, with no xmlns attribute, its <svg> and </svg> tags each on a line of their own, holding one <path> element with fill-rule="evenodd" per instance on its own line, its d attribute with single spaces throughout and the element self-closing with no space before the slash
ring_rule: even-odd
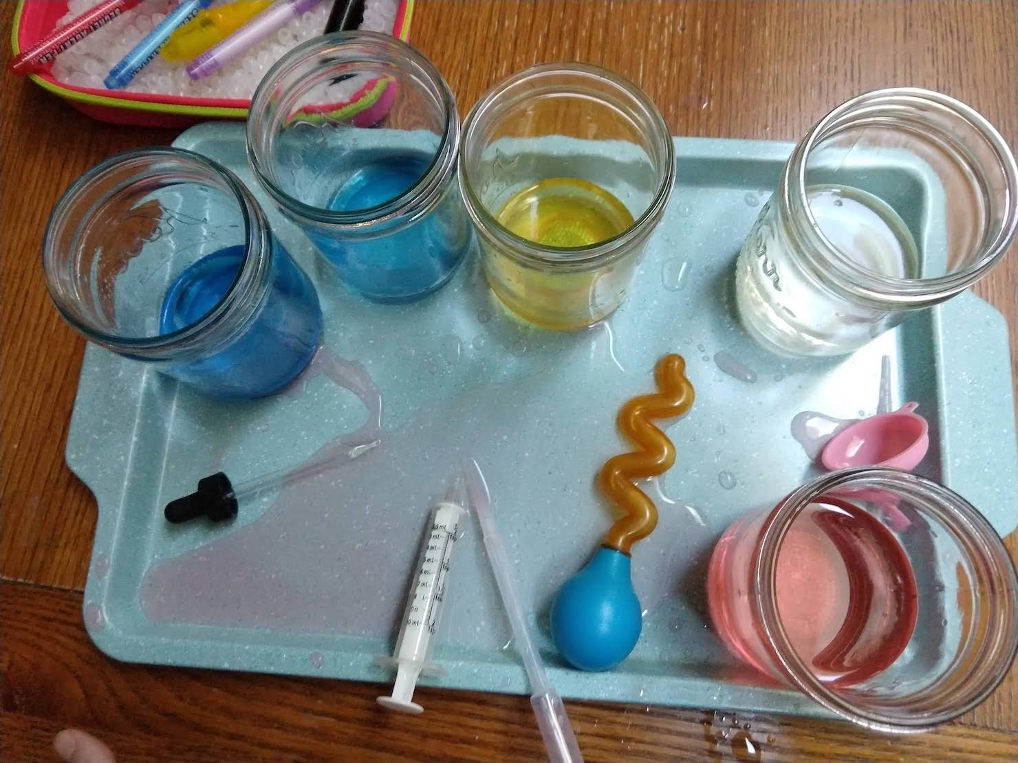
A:
<svg viewBox="0 0 1018 763">
<path fill-rule="evenodd" d="M 984 700 L 1018 649 L 1018 579 L 952 490 L 845 469 L 735 522 L 708 572 L 715 630 L 740 660 L 883 731 Z"/>
</svg>

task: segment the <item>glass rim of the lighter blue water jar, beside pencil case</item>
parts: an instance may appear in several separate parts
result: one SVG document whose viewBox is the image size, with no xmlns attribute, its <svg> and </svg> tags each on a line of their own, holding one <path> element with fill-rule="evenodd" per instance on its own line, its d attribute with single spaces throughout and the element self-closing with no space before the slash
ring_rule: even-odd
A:
<svg viewBox="0 0 1018 763">
<path fill-rule="evenodd" d="M 350 55 L 355 51 L 355 55 Z M 346 54 L 346 58 L 344 58 Z M 309 62 L 320 66 L 336 63 L 377 63 L 405 69 L 434 90 L 444 112 L 444 125 L 439 144 L 428 169 L 401 193 L 380 204 L 362 210 L 337 211 L 308 204 L 288 193 L 276 182 L 272 163 L 266 156 L 273 136 L 286 110 L 278 109 L 271 120 L 265 120 L 272 101 L 272 91 L 287 76 L 292 76 Z M 309 69 L 312 71 L 312 69 Z M 380 76 L 372 80 L 375 87 L 388 87 Z M 372 84 L 369 82 L 367 84 Z M 364 86 L 366 87 L 367 84 Z M 265 138 L 268 138 L 266 140 Z M 396 221 L 409 224 L 423 217 L 440 200 L 445 184 L 456 171 L 456 146 L 459 143 L 459 114 L 456 99 L 438 68 L 416 48 L 399 38 L 377 32 L 336 32 L 321 35 L 298 45 L 266 72 L 251 97 L 246 124 L 247 158 L 263 187 L 288 214 L 309 225 L 324 225 L 337 231 L 355 233 Z"/>
</svg>

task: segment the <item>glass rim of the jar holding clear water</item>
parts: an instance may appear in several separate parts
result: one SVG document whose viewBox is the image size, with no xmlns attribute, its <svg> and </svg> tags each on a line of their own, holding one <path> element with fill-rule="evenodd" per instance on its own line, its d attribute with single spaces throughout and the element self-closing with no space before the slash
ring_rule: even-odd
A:
<svg viewBox="0 0 1018 763">
<path fill-rule="evenodd" d="M 852 114 L 862 114 L 866 109 L 907 104 L 935 106 L 947 109 L 965 121 L 993 150 L 1003 173 L 1008 197 L 1004 200 L 1005 218 L 997 235 L 988 243 L 980 242 L 982 256 L 956 273 L 936 278 L 897 278 L 882 276 L 852 261 L 840 253 L 819 228 L 806 196 L 806 162 L 813 149 L 839 128 L 842 120 Z M 985 275 L 1006 253 L 1008 245 L 1018 231 L 1018 165 L 1007 142 L 989 121 L 975 109 L 957 99 L 922 87 L 886 87 L 871 91 L 846 101 L 832 109 L 814 124 L 795 146 L 786 164 L 781 181 L 781 199 L 786 211 L 802 210 L 808 225 L 801 226 L 800 234 L 806 236 L 810 246 L 804 247 L 806 256 L 819 272 L 834 270 L 859 296 L 873 302 L 921 307 L 971 286 Z"/>
</svg>

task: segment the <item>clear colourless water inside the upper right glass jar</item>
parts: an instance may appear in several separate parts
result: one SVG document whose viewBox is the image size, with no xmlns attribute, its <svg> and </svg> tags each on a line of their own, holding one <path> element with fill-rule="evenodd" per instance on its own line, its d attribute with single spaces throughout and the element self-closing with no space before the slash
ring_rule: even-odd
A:
<svg viewBox="0 0 1018 763">
<path fill-rule="evenodd" d="M 846 259 L 880 276 L 919 275 L 919 249 L 908 226 L 884 200 L 858 188 L 813 185 L 806 197 L 816 226 Z M 800 270 L 769 202 L 743 245 L 736 299 L 757 339 L 793 354 L 835 355 L 860 347 L 897 315 L 840 299 Z"/>
</svg>

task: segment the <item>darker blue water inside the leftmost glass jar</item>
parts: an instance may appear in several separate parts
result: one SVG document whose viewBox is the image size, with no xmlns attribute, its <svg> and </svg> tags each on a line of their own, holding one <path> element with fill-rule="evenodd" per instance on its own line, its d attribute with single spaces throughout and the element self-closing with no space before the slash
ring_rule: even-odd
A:
<svg viewBox="0 0 1018 763">
<path fill-rule="evenodd" d="M 179 331 L 214 309 L 233 284 L 243 256 L 243 246 L 231 246 L 181 272 L 163 299 L 160 332 Z M 269 288 L 249 309 L 253 319 L 239 336 L 208 348 L 197 359 L 171 361 L 173 374 L 213 397 L 232 399 L 271 395 L 292 382 L 318 347 L 322 309 L 312 282 L 278 242 Z"/>
</svg>

